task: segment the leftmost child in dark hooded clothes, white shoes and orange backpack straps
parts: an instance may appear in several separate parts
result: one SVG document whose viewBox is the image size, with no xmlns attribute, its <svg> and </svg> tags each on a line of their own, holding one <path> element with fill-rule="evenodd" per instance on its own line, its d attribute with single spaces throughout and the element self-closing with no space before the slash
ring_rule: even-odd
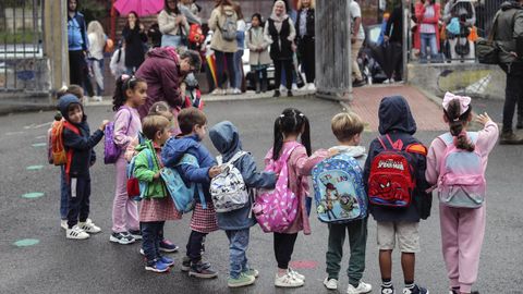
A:
<svg viewBox="0 0 523 294">
<path fill-rule="evenodd" d="M 65 180 L 68 184 L 68 230 L 65 237 L 74 240 L 88 238 L 88 233 L 98 233 L 89 217 L 90 175 L 89 168 L 95 164 L 96 155 L 93 149 L 104 137 L 104 130 L 109 121 L 104 121 L 92 136 L 87 117 L 80 99 L 66 94 L 58 101 L 58 107 L 65 120 L 63 128 L 63 146 L 68 152 Z M 80 223 L 78 223 L 80 219 Z"/>
</svg>

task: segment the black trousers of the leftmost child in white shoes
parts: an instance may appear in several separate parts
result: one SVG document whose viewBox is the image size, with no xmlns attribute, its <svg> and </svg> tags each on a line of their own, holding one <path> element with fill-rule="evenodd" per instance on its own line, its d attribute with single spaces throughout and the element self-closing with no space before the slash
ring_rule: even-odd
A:
<svg viewBox="0 0 523 294">
<path fill-rule="evenodd" d="M 72 229 L 78 220 L 85 222 L 89 217 L 90 176 L 69 179 L 68 225 Z"/>
</svg>

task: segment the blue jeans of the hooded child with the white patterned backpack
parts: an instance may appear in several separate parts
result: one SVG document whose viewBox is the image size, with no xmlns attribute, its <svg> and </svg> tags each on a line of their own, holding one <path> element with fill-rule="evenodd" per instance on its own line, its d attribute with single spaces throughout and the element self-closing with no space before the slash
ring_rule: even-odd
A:
<svg viewBox="0 0 523 294">
<path fill-rule="evenodd" d="M 226 231 L 229 238 L 230 277 L 238 279 L 242 272 L 248 271 L 246 250 L 248 247 L 248 230 Z"/>
</svg>

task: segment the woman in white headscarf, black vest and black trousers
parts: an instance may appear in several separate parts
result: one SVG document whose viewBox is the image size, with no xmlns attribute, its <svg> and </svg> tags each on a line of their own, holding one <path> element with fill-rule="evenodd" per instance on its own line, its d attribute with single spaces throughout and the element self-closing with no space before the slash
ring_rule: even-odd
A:
<svg viewBox="0 0 523 294">
<path fill-rule="evenodd" d="M 275 95 L 280 97 L 281 70 L 285 70 L 287 96 L 292 96 L 292 54 L 295 51 L 294 24 L 285 12 L 285 3 L 281 0 L 275 2 L 272 14 L 265 24 L 264 35 L 270 44 L 270 58 L 275 63 Z"/>
</svg>

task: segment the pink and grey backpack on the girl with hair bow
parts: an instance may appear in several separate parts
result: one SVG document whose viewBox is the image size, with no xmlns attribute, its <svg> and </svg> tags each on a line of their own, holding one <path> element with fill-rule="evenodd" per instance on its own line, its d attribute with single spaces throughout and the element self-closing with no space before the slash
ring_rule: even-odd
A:
<svg viewBox="0 0 523 294">
<path fill-rule="evenodd" d="M 473 144 L 477 133 L 469 132 Z M 439 166 L 439 200 L 450 207 L 479 208 L 485 201 L 486 181 L 478 147 L 474 151 L 459 149 L 450 133 L 439 136 L 447 148 Z"/>
</svg>

